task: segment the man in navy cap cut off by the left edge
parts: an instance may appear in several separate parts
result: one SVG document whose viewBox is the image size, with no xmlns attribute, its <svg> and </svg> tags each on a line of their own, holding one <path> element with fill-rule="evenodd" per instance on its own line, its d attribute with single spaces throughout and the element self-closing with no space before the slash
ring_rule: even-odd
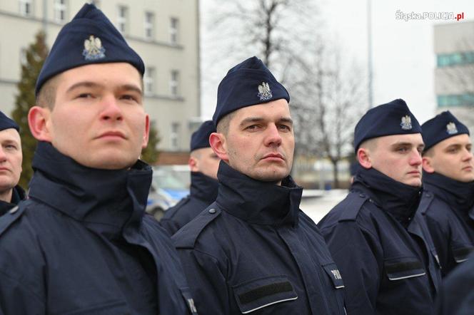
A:
<svg viewBox="0 0 474 315">
<path fill-rule="evenodd" d="M 19 130 L 19 125 L 0 111 L 0 216 L 25 199 L 25 191 L 17 185 L 23 160 Z"/>
</svg>

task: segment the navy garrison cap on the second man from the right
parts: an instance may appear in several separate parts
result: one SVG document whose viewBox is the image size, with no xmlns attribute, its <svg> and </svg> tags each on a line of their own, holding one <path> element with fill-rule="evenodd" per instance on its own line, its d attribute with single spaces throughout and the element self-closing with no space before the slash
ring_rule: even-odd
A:
<svg viewBox="0 0 474 315">
<path fill-rule="evenodd" d="M 390 103 L 370 108 L 360 118 L 354 130 L 354 150 L 365 140 L 385 135 L 407 135 L 421 133 L 421 127 L 405 100 L 399 98 Z"/>
</svg>

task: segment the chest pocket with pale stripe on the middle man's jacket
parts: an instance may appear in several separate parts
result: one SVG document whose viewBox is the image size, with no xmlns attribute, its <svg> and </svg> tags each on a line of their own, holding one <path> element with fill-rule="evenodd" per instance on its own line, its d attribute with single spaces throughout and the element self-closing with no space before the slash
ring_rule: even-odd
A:
<svg viewBox="0 0 474 315">
<path fill-rule="evenodd" d="M 285 276 L 253 279 L 233 286 L 242 314 L 248 314 L 263 307 L 298 299 L 293 284 Z"/>
</svg>

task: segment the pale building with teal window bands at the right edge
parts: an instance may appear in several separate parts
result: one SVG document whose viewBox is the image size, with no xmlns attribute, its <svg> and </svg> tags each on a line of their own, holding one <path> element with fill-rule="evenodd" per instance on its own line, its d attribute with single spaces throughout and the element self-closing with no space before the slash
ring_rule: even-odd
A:
<svg viewBox="0 0 474 315">
<path fill-rule="evenodd" d="M 450 110 L 474 133 L 474 21 L 434 26 L 437 112 Z"/>
</svg>

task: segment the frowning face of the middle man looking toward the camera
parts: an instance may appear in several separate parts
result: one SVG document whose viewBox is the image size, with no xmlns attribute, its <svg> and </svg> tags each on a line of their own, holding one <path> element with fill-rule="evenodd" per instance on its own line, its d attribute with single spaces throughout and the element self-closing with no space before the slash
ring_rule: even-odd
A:
<svg viewBox="0 0 474 315">
<path fill-rule="evenodd" d="M 294 148 L 290 109 L 280 99 L 236 110 L 221 158 L 253 179 L 279 183 L 291 171 Z"/>
</svg>

